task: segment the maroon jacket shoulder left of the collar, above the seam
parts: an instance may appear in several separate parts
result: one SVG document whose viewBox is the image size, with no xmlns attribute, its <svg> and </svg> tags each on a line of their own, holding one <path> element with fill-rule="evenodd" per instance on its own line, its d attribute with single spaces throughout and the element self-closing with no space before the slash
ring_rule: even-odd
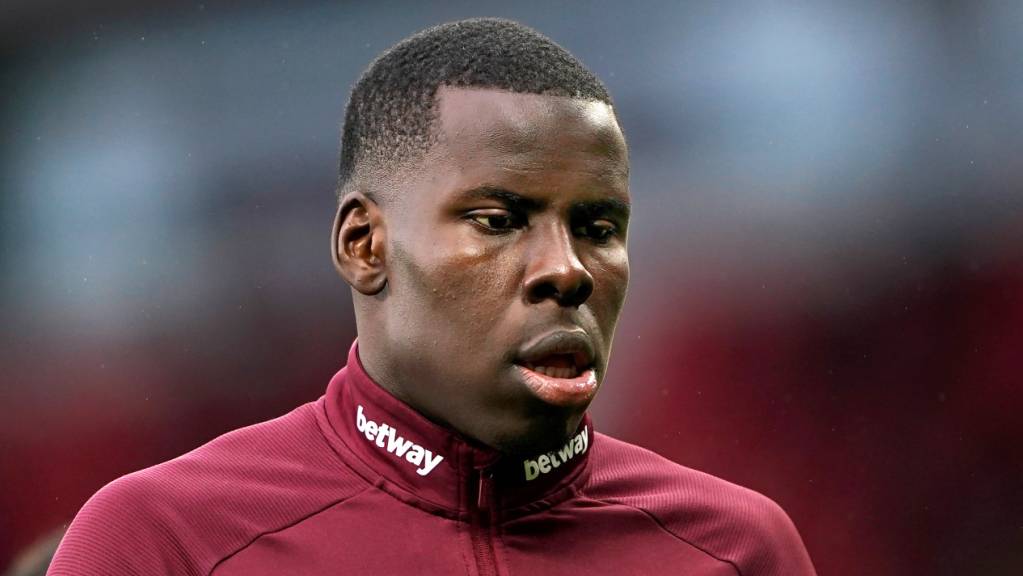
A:
<svg viewBox="0 0 1023 576">
<path fill-rule="evenodd" d="M 316 410 L 305 404 L 107 484 L 76 516 L 50 574 L 120 574 L 124 562 L 206 573 L 260 535 L 359 492 L 365 483 L 326 443 Z"/>
</svg>

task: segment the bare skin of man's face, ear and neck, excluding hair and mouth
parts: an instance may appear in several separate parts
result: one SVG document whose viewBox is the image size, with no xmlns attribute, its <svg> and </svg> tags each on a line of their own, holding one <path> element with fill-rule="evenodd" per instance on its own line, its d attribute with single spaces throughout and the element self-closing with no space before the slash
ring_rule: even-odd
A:
<svg viewBox="0 0 1023 576">
<path fill-rule="evenodd" d="M 625 139 L 602 102 L 442 87 L 437 105 L 425 158 L 362 177 L 339 208 L 331 249 L 360 359 L 470 439 L 553 448 L 603 381 L 625 300 Z M 591 388 L 524 385 L 522 350 L 558 331 L 584 336 Z"/>
</svg>

